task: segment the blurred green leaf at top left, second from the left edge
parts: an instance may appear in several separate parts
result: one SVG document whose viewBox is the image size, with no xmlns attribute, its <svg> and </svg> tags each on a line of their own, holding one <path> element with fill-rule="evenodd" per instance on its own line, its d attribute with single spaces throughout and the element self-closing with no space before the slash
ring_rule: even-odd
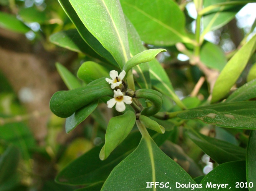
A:
<svg viewBox="0 0 256 191">
<path fill-rule="evenodd" d="M 23 21 L 28 23 L 37 22 L 41 24 L 46 23 L 49 20 L 48 15 L 46 15 L 46 12 L 39 11 L 34 6 L 20 9 L 19 15 Z"/>
</svg>

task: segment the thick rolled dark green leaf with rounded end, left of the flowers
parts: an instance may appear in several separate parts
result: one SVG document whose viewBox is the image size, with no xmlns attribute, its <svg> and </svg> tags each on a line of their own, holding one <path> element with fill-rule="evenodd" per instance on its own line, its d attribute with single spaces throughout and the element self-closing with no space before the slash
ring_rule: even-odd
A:
<svg viewBox="0 0 256 191">
<path fill-rule="evenodd" d="M 93 84 L 69 91 L 58 91 L 51 97 L 50 109 L 58 117 L 67 118 L 76 110 L 101 97 L 113 97 L 109 84 Z"/>
</svg>

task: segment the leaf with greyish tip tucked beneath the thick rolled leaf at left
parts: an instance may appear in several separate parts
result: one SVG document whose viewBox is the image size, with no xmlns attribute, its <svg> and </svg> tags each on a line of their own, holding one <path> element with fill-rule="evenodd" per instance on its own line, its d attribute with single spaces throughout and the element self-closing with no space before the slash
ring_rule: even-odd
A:
<svg viewBox="0 0 256 191">
<path fill-rule="evenodd" d="M 88 105 L 80 108 L 66 119 L 66 133 L 72 131 L 82 121 L 84 121 L 98 106 L 98 101 L 91 102 Z"/>
</svg>

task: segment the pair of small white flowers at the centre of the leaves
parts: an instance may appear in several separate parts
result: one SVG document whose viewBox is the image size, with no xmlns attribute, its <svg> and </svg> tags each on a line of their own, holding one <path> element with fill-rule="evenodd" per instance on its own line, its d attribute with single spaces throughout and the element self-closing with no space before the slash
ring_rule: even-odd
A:
<svg viewBox="0 0 256 191">
<path fill-rule="evenodd" d="M 124 76 L 126 75 L 126 72 L 123 70 L 119 75 L 116 70 L 112 70 L 109 73 L 109 76 L 112 79 L 106 78 L 106 81 L 111 84 L 111 88 L 115 89 L 118 88 L 122 84 L 122 80 L 124 79 Z M 128 95 L 124 95 L 120 89 L 114 90 L 114 98 L 107 101 L 107 107 L 112 108 L 116 104 L 116 110 L 118 112 L 123 112 L 126 109 L 126 104 L 132 103 L 132 98 Z"/>
</svg>

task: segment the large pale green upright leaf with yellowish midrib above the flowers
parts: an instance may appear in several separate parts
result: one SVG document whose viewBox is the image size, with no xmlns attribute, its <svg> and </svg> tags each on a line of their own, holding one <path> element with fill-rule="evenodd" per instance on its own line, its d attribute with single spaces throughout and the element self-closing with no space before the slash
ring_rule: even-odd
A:
<svg viewBox="0 0 256 191">
<path fill-rule="evenodd" d="M 118 0 L 70 0 L 84 26 L 122 68 L 130 58 L 124 14 Z"/>
</svg>

